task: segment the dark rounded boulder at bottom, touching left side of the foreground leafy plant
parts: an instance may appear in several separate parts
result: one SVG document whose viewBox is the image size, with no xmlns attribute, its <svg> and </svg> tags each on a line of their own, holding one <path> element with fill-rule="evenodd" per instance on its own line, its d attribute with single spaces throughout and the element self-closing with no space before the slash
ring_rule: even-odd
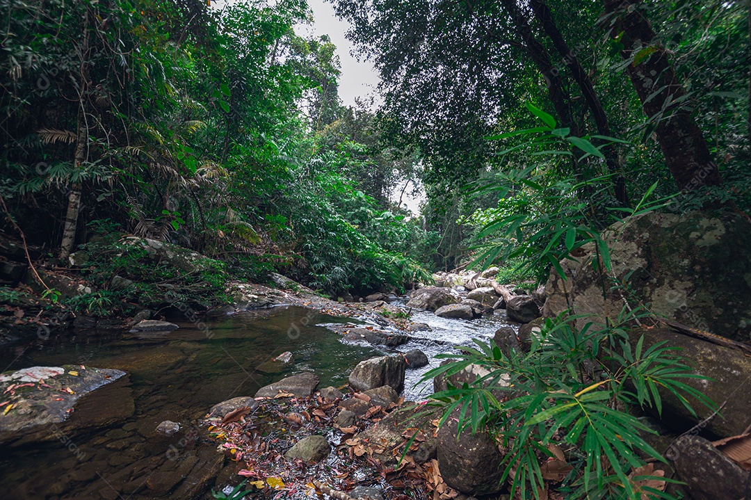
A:
<svg viewBox="0 0 751 500">
<path fill-rule="evenodd" d="M 496 441 L 487 432 L 472 435 L 469 428 L 460 434 L 457 431 L 458 422 L 453 417 L 438 429 L 438 466 L 443 480 L 448 486 L 468 495 L 499 492 L 503 456 Z"/>
</svg>

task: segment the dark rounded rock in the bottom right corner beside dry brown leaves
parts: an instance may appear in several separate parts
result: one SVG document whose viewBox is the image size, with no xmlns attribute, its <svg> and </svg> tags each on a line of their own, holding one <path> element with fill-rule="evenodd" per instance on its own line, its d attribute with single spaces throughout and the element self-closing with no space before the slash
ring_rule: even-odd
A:
<svg viewBox="0 0 751 500">
<path fill-rule="evenodd" d="M 749 493 L 749 472 L 698 435 L 683 435 L 668 450 L 677 479 L 694 500 L 740 500 Z M 441 469 L 443 471 L 443 469 Z"/>
</svg>

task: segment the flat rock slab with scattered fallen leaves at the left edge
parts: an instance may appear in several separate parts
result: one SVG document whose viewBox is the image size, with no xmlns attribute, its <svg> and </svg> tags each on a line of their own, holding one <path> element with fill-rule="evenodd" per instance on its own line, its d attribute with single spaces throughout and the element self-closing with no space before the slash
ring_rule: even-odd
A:
<svg viewBox="0 0 751 500">
<path fill-rule="evenodd" d="M 116 369 L 80 366 L 35 366 L 0 375 L 0 392 L 10 401 L 0 415 L 0 442 L 67 420 L 79 399 L 124 375 Z"/>
</svg>

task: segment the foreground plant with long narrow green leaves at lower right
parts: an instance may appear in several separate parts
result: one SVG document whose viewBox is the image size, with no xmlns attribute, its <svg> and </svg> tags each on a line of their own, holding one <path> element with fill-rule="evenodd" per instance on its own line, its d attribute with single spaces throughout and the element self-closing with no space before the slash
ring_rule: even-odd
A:
<svg viewBox="0 0 751 500">
<path fill-rule="evenodd" d="M 629 408 L 661 413 L 659 391 L 677 396 L 692 412 L 686 396 L 714 408 L 685 383 L 701 376 L 676 348 L 665 342 L 647 348 L 644 336 L 629 336 L 629 324 L 639 315 L 624 308 L 611 327 L 587 323 L 578 330 L 578 317 L 564 313 L 545 320 L 528 353 L 512 351 L 507 357 L 498 346 L 475 340 L 477 348 L 439 355 L 451 363 L 430 370 L 424 380 L 470 364 L 489 373 L 463 387 L 449 384 L 429 405 L 442 413 L 441 425 L 458 417 L 460 431 L 487 430 L 495 436 L 504 450 L 503 480 L 512 479 L 512 496 L 538 498 L 544 489 L 540 464 L 553 456 L 548 447 L 565 445 L 572 449 L 573 468 L 560 489 L 569 491 L 568 498 L 638 500 L 641 492 L 629 472 L 645 464 L 644 456 L 665 459 L 645 439 L 653 431 Z"/>
</svg>

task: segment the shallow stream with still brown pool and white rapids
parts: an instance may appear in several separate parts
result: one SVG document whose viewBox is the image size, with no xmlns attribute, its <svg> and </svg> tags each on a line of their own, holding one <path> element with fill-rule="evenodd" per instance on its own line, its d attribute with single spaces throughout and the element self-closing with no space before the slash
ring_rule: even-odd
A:
<svg viewBox="0 0 751 500">
<path fill-rule="evenodd" d="M 403 301 L 396 304 L 402 305 Z M 427 354 L 430 366 L 407 370 L 406 399 L 426 399 L 432 393 L 430 381 L 418 381 L 428 369 L 439 365 L 440 360 L 433 359 L 436 354 L 451 352 L 453 345 L 472 345 L 472 338 L 492 339 L 505 324 L 503 318 L 486 316 L 464 321 L 413 311 L 412 321 L 426 323 L 432 331 L 410 333 L 410 341 L 398 351 L 419 348 Z M 117 481 L 119 474 L 134 464 L 164 466 L 165 455 L 169 458 L 175 444 L 153 437 L 158 423 L 173 420 L 192 426 L 217 402 L 252 396 L 259 387 L 296 372 L 315 372 L 321 379 L 319 388 L 340 387 L 347 383 L 348 374 L 357 363 L 389 352 L 372 345 L 342 342 L 339 334 L 323 326 L 349 323 L 351 319 L 296 306 L 201 320 L 192 323 L 185 318 L 170 318 L 179 324 L 179 330 L 170 333 L 70 330 L 47 340 L 0 349 L 2 371 L 80 364 L 128 373 L 82 399 L 65 423 L 65 429 L 72 430 L 56 431 L 42 443 L 23 444 L 21 440 L 13 446 L 0 447 L 4 487 L 0 497 L 155 498 L 154 491 L 159 486 L 169 488 L 170 484 L 149 484 L 150 489 L 146 489 Z M 294 367 L 289 372 L 268 375 L 255 369 L 284 351 L 294 354 Z M 191 453 L 198 454 L 198 465 L 191 475 L 196 470 L 209 469 L 200 467 L 204 463 L 201 460 L 208 463 L 218 456 L 214 447 L 205 445 Z M 182 488 L 179 498 L 211 498 L 208 493 L 192 494 L 185 486 L 190 480 L 189 475 L 175 490 L 180 492 Z M 221 480 L 219 474 L 217 482 Z M 197 481 L 198 478 L 194 482 Z M 174 498 L 175 491 L 169 498 Z"/>
</svg>

